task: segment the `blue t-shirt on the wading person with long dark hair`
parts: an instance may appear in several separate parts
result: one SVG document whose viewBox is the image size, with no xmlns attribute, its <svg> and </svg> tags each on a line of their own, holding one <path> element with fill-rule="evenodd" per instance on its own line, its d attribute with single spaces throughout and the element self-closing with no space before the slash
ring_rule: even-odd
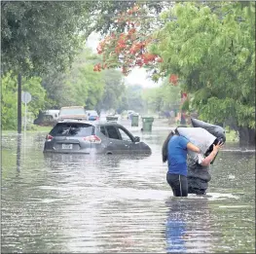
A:
<svg viewBox="0 0 256 254">
<path fill-rule="evenodd" d="M 168 141 L 168 173 L 187 175 L 187 144 L 184 136 L 174 135 Z"/>
</svg>

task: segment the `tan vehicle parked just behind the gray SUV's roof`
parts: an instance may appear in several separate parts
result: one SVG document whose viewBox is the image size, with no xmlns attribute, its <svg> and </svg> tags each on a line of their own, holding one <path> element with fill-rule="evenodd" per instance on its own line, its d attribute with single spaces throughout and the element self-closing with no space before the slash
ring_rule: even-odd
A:
<svg viewBox="0 0 256 254">
<path fill-rule="evenodd" d="M 62 121 L 64 119 L 88 120 L 88 114 L 83 106 L 61 107 L 58 120 Z"/>
</svg>

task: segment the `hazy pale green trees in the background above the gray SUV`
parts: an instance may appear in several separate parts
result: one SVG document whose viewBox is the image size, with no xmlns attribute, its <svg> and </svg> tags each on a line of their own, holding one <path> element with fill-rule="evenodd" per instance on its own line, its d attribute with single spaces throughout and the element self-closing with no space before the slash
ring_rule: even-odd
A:
<svg viewBox="0 0 256 254">
<path fill-rule="evenodd" d="M 49 105 L 57 108 L 82 105 L 97 110 L 116 107 L 125 88 L 122 74 L 118 70 L 93 72 L 93 64 L 99 58 L 85 49 L 64 74 L 50 72 L 45 75 L 43 86 L 48 91 Z"/>
</svg>

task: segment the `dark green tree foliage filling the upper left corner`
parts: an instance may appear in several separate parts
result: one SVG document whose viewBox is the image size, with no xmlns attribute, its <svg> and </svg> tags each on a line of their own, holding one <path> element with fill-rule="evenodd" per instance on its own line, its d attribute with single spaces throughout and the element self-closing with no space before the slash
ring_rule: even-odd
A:
<svg viewBox="0 0 256 254">
<path fill-rule="evenodd" d="M 93 5 L 93 3 L 91 3 Z M 88 32 L 87 2 L 12 2 L 1 9 L 2 68 L 45 73 L 65 69 Z"/>
</svg>

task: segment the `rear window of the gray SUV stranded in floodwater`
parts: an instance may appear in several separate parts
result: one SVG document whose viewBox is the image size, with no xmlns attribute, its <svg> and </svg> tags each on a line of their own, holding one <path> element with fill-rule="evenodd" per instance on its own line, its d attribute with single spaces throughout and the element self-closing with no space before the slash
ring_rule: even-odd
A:
<svg viewBox="0 0 256 254">
<path fill-rule="evenodd" d="M 88 124 L 57 124 L 50 132 L 52 136 L 90 136 L 94 127 Z"/>
</svg>

